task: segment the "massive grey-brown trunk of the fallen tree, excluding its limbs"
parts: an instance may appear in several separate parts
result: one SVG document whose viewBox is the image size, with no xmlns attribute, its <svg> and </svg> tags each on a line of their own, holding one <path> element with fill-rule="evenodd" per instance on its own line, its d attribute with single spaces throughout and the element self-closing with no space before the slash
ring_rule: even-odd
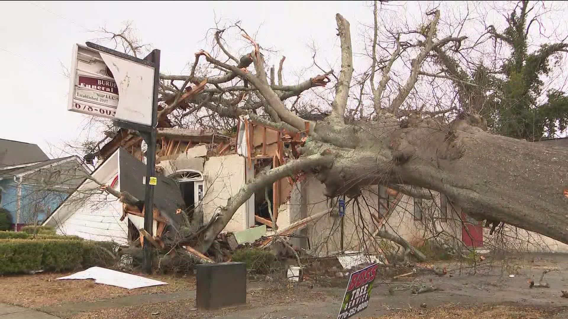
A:
<svg viewBox="0 0 568 319">
<path fill-rule="evenodd" d="M 386 182 L 428 188 L 478 220 L 504 221 L 568 244 L 568 149 L 492 135 L 467 124 L 475 119 L 448 129 L 432 120 L 397 129 L 360 123 L 366 129 L 351 138 L 362 146 L 342 152 L 318 178 L 328 196 L 349 184 L 352 194 Z"/>
</svg>

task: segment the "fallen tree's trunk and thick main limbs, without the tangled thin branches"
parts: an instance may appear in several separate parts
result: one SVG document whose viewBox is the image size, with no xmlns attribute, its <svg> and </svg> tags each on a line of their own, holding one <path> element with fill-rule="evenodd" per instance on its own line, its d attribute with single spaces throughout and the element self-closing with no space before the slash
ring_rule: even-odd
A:
<svg viewBox="0 0 568 319">
<path fill-rule="evenodd" d="M 201 234 L 199 251 L 207 250 L 250 194 L 300 170 L 324 183 L 327 196 L 357 196 L 369 184 L 406 184 L 441 192 L 478 220 L 503 221 L 568 243 L 567 199 L 563 196 L 568 173 L 562 160 L 568 150 L 491 134 L 481 116 L 465 112 L 449 124 L 431 117 L 445 111 L 416 112 L 401 120 L 402 114 L 408 114 L 402 104 L 414 88 L 425 57 L 434 49 L 465 39 L 436 39 L 440 11 L 428 12 L 428 16 L 431 22 L 421 33 L 424 40 L 412 60 L 410 77 L 392 102 L 383 106 L 381 94 L 389 81 L 392 61 L 398 58 L 398 43 L 379 86 L 373 90 L 376 115 L 370 120 L 345 117 L 353 52 L 349 22 L 340 14 L 336 22 L 341 72 L 331 115 L 321 121 L 306 121 L 283 104 L 282 95 L 275 90 L 279 88 L 267 81 L 264 58 L 257 46 L 249 54 L 256 74 L 206 55 L 208 62 L 247 79 L 258 90 L 281 120 L 272 123 L 273 127 L 303 131 L 309 125 L 309 136 L 299 149 L 298 159 L 247 183 L 229 199 Z"/>
</svg>

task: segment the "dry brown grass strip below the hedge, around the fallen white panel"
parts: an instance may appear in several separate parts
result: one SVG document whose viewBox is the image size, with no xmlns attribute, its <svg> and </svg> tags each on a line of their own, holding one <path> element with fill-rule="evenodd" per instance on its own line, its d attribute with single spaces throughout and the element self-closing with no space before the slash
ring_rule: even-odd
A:
<svg viewBox="0 0 568 319">
<path fill-rule="evenodd" d="M 73 272 L 3 276 L 0 278 L 0 291 L 2 291 L 0 302 L 27 308 L 39 308 L 80 301 L 195 289 L 195 276 L 193 275 L 187 275 L 185 278 L 173 275 L 149 275 L 148 278 L 168 284 L 131 290 L 96 284 L 91 279 L 55 280 L 70 274 Z"/>
</svg>

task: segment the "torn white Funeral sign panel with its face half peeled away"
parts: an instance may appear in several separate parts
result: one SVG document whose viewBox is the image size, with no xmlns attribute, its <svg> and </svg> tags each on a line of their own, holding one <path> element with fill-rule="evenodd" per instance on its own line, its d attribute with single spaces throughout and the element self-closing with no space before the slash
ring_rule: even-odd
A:
<svg viewBox="0 0 568 319">
<path fill-rule="evenodd" d="M 151 125 L 153 90 L 151 66 L 74 45 L 68 110 Z"/>
</svg>

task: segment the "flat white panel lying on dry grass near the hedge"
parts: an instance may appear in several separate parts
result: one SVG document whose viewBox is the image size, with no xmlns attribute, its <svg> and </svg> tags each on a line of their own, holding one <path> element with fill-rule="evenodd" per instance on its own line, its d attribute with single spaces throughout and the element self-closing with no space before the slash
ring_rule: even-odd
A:
<svg viewBox="0 0 568 319">
<path fill-rule="evenodd" d="M 73 275 L 56 279 L 95 279 L 95 283 L 98 284 L 106 284 L 126 289 L 168 284 L 165 282 L 159 282 L 158 280 L 144 278 L 142 276 L 127 274 L 126 272 L 120 272 L 102 267 L 91 267 L 87 270 L 77 272 Z"/>
</svg>

